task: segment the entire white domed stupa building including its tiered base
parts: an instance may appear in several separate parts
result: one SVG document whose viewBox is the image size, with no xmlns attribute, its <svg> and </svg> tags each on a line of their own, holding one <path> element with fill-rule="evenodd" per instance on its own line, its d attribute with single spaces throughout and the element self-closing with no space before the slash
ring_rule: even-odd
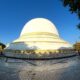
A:
<svg viewBox="0 0 80 80">
<path fill-rule="evenodd" d="M 25 24 L 20 37 L 7 46 L 5 55 L 38 59 L 38 57 L 55 58 L 52 54 L 59 53 L 60 51 L 61 55 L 58 55 L 60 57 L 67 56 L 68 52 L 73 53 L 66 49 L 72 49 L 72 45 L 60 38 L 55 25 L 47 19 L 35 18 Z M 44 55 L 44 53 L 47 55 Z M 48 56 L 48 54 L 50 55 Z M 68 54 L 68 56 L 70 55 Z"/>
</svg>

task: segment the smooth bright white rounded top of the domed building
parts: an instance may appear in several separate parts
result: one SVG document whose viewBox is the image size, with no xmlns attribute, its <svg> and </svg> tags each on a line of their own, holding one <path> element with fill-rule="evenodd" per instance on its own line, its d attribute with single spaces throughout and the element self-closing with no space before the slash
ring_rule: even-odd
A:
<svg viewBox="0 0 80 80">
<path fill-rule="evenodd" d="M 22 29 L 20 36 L 32 32 L 49 32 L 59 36 L 55 25 L 45 18 L 35 18 L 30 20 Z"/>
</svg>

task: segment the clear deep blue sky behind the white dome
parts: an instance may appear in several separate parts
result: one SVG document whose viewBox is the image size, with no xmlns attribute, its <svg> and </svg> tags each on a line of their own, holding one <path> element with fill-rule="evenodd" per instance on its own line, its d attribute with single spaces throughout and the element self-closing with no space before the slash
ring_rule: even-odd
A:
<svg viewBox="0 0 80 80">
<path fill-rule="evenodd" d="M 80 40 L 79 20 L 60 0 L 0 0 L 0 42 L 11 43 L 24 24 L 37 17 L 51 20 L 64 40 L 72 44 Z"/>
</svg>

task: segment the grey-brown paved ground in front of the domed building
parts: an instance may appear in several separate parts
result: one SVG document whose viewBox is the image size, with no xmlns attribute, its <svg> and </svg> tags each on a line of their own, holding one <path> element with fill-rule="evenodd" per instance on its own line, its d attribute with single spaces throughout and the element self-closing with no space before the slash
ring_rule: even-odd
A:
<svg viewBox="0 0 80 80">
<path fill-rule="evenodd" d="M 8 62 L 0 59 L 0 80 L 80 80 L 80 57 Z"/>
</svg>

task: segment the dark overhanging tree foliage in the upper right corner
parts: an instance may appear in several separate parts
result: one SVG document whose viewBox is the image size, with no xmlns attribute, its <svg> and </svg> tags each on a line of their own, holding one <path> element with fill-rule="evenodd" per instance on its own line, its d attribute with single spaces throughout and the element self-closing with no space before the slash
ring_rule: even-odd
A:
<svg viewBox="0 0 80 80">
<path fill-rule="evenodd" d="M 77 14 L 78 18 L 80 19 L 80 0 L 61 0 L 63 6 L 69 7 L 69 11 L 71 13 Z M 80 23 L 77 25 L 78 29 L 80 29 Z"/>
</svg>

